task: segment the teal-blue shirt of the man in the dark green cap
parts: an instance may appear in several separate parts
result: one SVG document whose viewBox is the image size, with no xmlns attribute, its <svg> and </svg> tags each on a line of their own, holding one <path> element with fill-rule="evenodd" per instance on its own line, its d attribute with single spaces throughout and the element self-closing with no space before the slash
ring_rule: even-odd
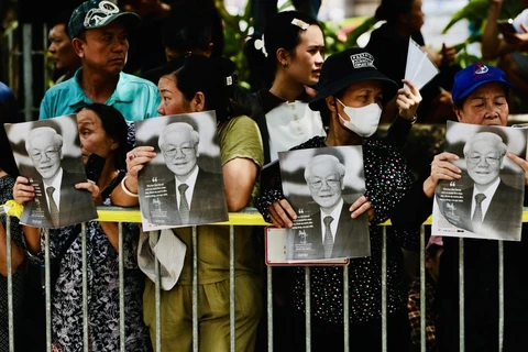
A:
<svg viewBox="0 0 528 352">
<path fill-rule="evenodd" d="M 77 69 L 74 77 L 46 91 L 41 102 L 38 120 L 70 114 L 94 102 L 80 88 L 81 70 L 82 68 Z M 118 86 L 105 103 L 118 109 L 127 121 L 141 121 L 160 116 L 156 111 L 160 101 L 157 87 L 153 82 L 120 73 Z"/>
</svg>

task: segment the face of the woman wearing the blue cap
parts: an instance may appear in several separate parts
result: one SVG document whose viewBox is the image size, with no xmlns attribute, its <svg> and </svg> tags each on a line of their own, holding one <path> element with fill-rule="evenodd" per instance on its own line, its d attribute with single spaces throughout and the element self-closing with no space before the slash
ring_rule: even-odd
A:
<svg viewBox="0 0 528 352">
<path fill-rule="evenodd" d="M 460 122 L 482 125 L 506 125 L 509 108 L 506 91 L 499 82 L 484 84 L 465 99 L 462 109 L 454 108 Z"/>
</svg>

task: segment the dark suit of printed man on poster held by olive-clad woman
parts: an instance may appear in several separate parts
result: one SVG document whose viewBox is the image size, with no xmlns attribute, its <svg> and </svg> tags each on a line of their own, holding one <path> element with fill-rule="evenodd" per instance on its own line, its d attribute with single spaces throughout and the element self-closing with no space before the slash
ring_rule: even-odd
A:
<svg viewBox="0 0 528 352">
<path fill-rule="evenodd" d="M 178 211 L 176 180 L 166 167 L 161 174 L 168 175 L 163 180 L 163 195 L 146 198 L 141 204 L 144 217 L 155 226 L 185 226 Z M 148 191 L 148 186 L 146 187 Z M 229 220 L 228 205 L 223 188 L 222 174 L 215 174 L 198 168 L 193 199 L 190 200 L 189 221 L 187 226 L 207 224 Z"/>
</svg>

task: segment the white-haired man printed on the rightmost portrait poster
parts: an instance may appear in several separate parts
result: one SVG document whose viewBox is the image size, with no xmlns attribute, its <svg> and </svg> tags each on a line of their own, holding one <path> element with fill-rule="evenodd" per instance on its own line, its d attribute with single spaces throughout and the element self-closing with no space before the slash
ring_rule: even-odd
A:
<svg viewBox="0 0 528 352">
<path fill-rule="evenodd" d="M 454 224 L 479 235 L 496 239 L 501 234 L 508 240 L 519 231 L 522 193 L 501 179 L 507 145 L 496 133 L 480 132 L 465 143 L 463 152 L 472 185 L 462 190 L 463 204 L 457 207 L 460 223 Z"/>
</svg>

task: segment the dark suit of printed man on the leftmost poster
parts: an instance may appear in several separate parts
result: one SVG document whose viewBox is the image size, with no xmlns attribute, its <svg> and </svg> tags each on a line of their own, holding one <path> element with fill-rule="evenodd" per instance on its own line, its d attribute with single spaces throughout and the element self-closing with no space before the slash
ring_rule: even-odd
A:
<svg viewBox="0 0 528 352">
<path fill-rule="evenodd" d="M 63 169 L 59 189 L 58 226 L 52 222 L 52 215 L 46 199 L 46 189 L 42 179 L 33 183 L 35 199 L 24 207 L 21 222 L 38 228 L 62 228 L 97 218 L 97 210 L 91 194 L 76 189 L 75 184 L 86 182 L 82 173 L 68 173 Z"/>
</svg>

